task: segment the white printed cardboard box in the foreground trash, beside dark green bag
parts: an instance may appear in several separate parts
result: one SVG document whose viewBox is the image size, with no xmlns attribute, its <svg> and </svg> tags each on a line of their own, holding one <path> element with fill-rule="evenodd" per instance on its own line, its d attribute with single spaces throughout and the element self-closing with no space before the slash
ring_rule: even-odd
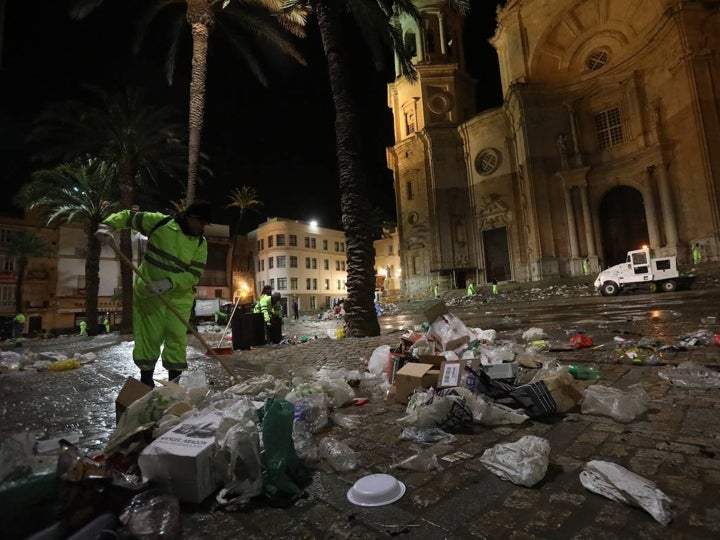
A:
<svg viewBox="0 0 720 540">
<path fill-rule="evenodd" d="M 202 502 L 220 487 L 213 461 L 221 418 L 222 411 L 208 407 L 155 439 L 138 456 L 143 478 L 181 501 Z"/>
</svg>

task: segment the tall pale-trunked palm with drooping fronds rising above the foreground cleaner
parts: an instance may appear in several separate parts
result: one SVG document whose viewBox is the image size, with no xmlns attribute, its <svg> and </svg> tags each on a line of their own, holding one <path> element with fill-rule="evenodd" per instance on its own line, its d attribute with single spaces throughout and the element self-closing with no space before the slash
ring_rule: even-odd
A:
<svg viewBox="0 0 720 540">
<path fill-rule="evenodd" d="M 70 14 L 76 19 L 89 15 L 104 0 L 74 0 Z M 252 41 L 258 38 L 283 54 L 305 64 L 301 54 L 286 37 L 286 32 L 303 37 L 304 19 L 299 13 L 283 12 L 283 0 L 155 0 L 147 5 L 146 11 L 138 25 L 139 33 L 136 43 L 142 42 L 145 32 L 160 12 L 170 11 L 170 16 L 178 21 L 184 18 L 192 35 L 192 63 L 190 74 L 190 111 L 189 111 L 189 144 L 187 204 L 195 200 L 195 188 L 198 179 L 198 160 L 200 156 L 200 139 L 205 114 L 205 81 L 207 76 L 208 42 L 213 30 L 222 27 L 226 22 L 228 28 L 222 35 L 229 40 L 230 46 L 243 58 L 247 66 L 261 84 L 267 85 L 267 79 L 260 63 L 254 54 Z M 184 7 L 184 10 L 181 10 Z M 180 24 L 173 24 L 178 31 Z M 175 71 L 175 53 L 178 50 L 180 35 L 175 33 L 170 47 L 166 71 L 168 82 L 172 83 Z M 137 46 L 136 46 L 137 52 Z"/>
</svg>

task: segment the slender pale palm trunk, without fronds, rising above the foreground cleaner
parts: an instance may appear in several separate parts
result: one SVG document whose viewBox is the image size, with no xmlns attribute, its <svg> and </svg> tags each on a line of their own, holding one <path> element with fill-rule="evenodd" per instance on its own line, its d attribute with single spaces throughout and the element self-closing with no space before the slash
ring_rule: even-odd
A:
<svg viewBox="0 0 720 540">
<path fill-rule="evenodd" d="M 207 0 L 188 0 L 187 21 L 193 39 L 192 71 L 190 78 L 190 119 L 188 133 L 188 183 L 185 204 L 195 200 L 200 139 L 205 114 L 205 77 L 210 30 L 214 25 L 212 8 Z"/>
</svg>

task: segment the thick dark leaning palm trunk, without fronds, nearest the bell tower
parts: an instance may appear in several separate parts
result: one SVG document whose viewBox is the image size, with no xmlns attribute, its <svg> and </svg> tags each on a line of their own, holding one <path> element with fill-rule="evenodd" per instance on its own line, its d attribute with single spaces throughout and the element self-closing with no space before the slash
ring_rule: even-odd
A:
<svg viewBox="0 0 720 540">
<path fill-rule="evenodd" d="M 362 133 L 352 98 L 348 55 L 342 45 L 342 20 L 332 2 L 314 2 L 320 36 L 328 62 L 335 105 L 335 138 L 340 175 L 340 211 L 347 248 L 345 331 L 351 337 L 380 335 L 375 313 L 375 270 L 372 215 L 367 196 Z"/>
</svg>

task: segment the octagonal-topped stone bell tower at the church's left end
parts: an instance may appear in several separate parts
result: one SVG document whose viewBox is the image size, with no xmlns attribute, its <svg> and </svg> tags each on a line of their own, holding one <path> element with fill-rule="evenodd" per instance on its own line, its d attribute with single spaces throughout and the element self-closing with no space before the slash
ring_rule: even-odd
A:
<svg viewBox="0 0 720 540">
<path fill-rule="evenodd" d="M 388 85 L 395 144 L 387 161 L 395 183 L 403 294 L 477 283 L 466 151 L 458 132 L 475 114 L 464 19 L 446 0 L 415 4 L 420 20 L 399 17 L 397 24 L 414 53 L 417 80 L 398 75 Z"/>
</svg>

